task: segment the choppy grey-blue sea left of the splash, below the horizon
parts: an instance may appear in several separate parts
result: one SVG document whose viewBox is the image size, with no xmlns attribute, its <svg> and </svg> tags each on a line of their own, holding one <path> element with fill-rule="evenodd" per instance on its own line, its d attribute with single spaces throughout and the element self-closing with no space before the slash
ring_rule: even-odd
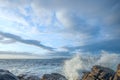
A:
<svg viewBox="0 0 120 80">
<path fill-rule="evenodd" d="M 62 68 L 66 59 L 1 59 L 0 69 L 6 69 L 15 75 L 38 75 L 48 73 L 63 74 Z"/>
</svg>

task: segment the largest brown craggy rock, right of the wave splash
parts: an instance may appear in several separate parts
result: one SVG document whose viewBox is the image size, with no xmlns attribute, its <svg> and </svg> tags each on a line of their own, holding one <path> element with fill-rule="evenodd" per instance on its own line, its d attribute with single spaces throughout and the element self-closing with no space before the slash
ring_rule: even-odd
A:
<svg viewBox="0 0 120 80">
<path fill-rule="evenodd" d="M 91 72 L 87 72 L 83 75 L 82 80 L 110 80 L 113 78 L 114 71 L 102 67 L 102 66 L 93 66 Z"/>
</svg>

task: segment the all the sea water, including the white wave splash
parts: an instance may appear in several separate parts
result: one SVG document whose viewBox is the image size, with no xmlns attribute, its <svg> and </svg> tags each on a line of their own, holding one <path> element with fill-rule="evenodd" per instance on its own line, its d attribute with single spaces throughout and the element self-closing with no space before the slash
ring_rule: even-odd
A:
<svg viewBox="0 0 120 80">
<path fill-rule="evenodd" d="M 90 71 L 94 65 L 116 70 L 120 64 L 120 54 L 102 51 L 100 54 L 79 53 L 72 58 L 59 59 L 1 59 L 0 69 L 14 73 L 37 75 L 60 73 L 68 80 L 81 79 L 83 71 Z"/>
</svg>

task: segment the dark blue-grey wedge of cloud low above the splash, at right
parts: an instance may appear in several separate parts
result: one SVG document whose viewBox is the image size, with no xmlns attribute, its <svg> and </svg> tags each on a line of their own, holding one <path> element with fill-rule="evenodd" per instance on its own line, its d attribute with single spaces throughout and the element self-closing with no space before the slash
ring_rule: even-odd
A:
<svg viewBox="0 0 120 80">
<path fill-rule="evenodd" d="M 115 53 L 120 53 L 120 39 L 100 41 L 96 43 L 89 43 L 84 46 L 75 46 L 75 47 L 65 47 L 70 52 L 101 52 L 110 51 Z"/>
</svg>

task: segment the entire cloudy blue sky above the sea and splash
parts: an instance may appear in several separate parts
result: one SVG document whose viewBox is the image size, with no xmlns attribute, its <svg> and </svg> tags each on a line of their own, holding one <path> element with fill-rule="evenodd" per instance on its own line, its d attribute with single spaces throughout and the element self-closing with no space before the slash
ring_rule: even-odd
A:
<svg viewBox="0 0 120 80">
<path fill-rule="evenodd" d="M 0 0 L 0 58 L 120 53 L 120 0 Z"/>
</svg>

